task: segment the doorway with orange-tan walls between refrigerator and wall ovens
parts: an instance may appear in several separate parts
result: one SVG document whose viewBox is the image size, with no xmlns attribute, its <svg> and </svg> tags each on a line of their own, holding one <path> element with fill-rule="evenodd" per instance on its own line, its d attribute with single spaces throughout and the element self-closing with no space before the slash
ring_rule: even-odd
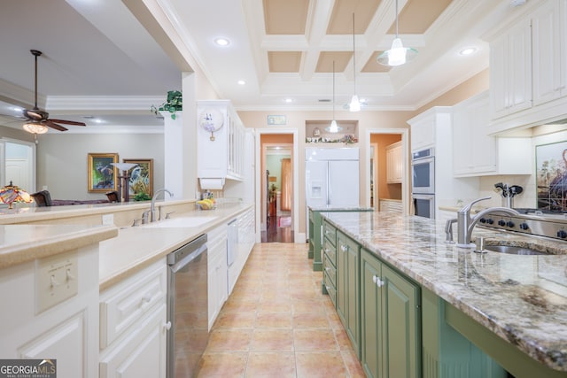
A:
<svg viewBox="0 0 567 378">
<path fill-rule="evenodd" d="M 408 130 L 397 128 L 369 129 L 368 204 L 375 211 L 395 211 L 408 214 Z M 398 153 L 391 154 L 393 147 Z M 388 156 L 390 155 L 390 156 Z M 399 172 L 392 175 L 392 156 Z M 388 166 L 390 160 L 391 166 Z"/>
</svg>

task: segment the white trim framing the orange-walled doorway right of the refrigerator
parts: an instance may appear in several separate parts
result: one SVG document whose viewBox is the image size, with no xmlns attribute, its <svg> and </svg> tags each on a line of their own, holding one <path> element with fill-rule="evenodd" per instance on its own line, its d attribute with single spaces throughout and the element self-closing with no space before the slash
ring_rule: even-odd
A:
<svg viewBox="0 0 567 378">
<path fill-rule="evenodd" d="M 401 207 L 403 214 L 409 214 L 409 181 L 408 181 L 408 159 L 409 159 L 409 129 L 408 128 L 367 128 L 366 129 L 366 161 L 370 161 L 370 136 L 372 134 L 400 134 L 401 135 L 401 156 L 402 160 L 402 176 L 401 176 Z M 370 182 L 370 166 L 364 173 L 366 182 Z M 375 190 L 377 192 L 377 190 Z M 370 185 L 365 189 L 366 203 L 370 203 Z M 374 198 L 375 208 L 378 198 Z"/>
</svg>

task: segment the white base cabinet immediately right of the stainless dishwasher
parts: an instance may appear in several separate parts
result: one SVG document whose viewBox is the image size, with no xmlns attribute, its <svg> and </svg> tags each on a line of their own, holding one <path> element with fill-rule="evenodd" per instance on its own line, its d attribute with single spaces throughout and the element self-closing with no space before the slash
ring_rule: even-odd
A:
<svg viewBox="0 0 567 378">
<path fill-rule="evenodd" d="M 229 297 L 227 283 L 227 225 L 206 233 L 208 249 L 208 326 L 213 327 L 222 305 Z"/>
</svg>

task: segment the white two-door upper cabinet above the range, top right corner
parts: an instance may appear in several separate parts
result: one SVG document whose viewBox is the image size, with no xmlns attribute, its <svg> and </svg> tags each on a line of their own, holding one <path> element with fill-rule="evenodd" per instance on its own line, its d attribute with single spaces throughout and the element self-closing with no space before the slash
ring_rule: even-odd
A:
<svg viewBox="0 0 567 378">
<path fill-rule="evenodd" d="M 492 135 L 565 118 L 567 0 L 522 8 L 488 37 Z"/>
</svg>

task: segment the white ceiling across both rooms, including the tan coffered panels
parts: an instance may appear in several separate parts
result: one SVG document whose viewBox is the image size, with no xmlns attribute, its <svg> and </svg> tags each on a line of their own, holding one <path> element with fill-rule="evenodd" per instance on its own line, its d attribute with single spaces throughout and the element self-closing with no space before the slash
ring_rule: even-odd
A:
<svg viewBox="0 0 567 378">
<path fill-rule="evenodd" d="M 13 112 L 7 104 L 34 103 L 30 49 L 43 51 L 39 106 L 89 130 L 159 127 L 151 104 L 180 89 L 191 65 L 238 110 L 329 111 L 333 62 L 338 109 L 356 92 L 367 101 L 363 111 L 415 110 L 484 70 L 483 35 L 521 7 L 399 0 L 400 38 L 419 53 L 404 66 L 381 66 L 376 58 L 395 36 L 395 8 L 394 0 L 4 0 L 0 113 Z M 161 31 L 147 27 L 164 22 Z M 218 37 L 229 45 L 216 45 Z M 476 51 L 460 55 L 467 47 Z M 14 125 L 0 118 L 8 121 Z"/>
</svg>

